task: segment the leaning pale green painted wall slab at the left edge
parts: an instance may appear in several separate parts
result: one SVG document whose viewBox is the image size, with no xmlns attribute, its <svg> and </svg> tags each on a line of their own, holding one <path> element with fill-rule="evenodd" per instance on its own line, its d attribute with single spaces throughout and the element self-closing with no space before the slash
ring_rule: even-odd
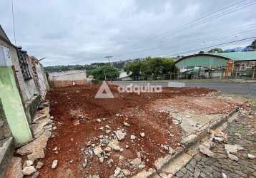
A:
<svg viewBox="0 0 256 178">
<path fill-rule="evenodd" d="M 11 67 L 0 66 L 0 98 L 11 128 L 12 135 L 18 145 L 32 140 L 33 136 L 26 120 L 21 96 Z"/>
</svg>

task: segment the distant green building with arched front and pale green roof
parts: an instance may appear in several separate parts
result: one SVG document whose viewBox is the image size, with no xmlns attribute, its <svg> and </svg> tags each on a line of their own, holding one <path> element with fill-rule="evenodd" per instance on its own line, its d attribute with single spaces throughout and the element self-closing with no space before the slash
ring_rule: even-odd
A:
<svg viewBox="0 0 256 178">
<path fill-rule="evenodd" d="M 194 54 L 179 58 L 174 64 L 190 78 L 195 78 L 195 75 L 196 78 L 199 75 L 202 78 L 223 78 L 225 74 L 226 77 L 235 75 L 235 78 L 256 79 L 256 51 Z"/>
</svg>

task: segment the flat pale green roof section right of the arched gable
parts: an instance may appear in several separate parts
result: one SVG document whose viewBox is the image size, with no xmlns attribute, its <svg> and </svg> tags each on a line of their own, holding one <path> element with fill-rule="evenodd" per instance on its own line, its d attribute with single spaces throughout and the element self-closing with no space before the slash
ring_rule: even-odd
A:
<svg viewBox="0 0 256 178">
<path fill-rule="evenodd" d="M 230 58 L 232 61 L 256 61 L 256 51 L 206 54 Z"/>
</svg>

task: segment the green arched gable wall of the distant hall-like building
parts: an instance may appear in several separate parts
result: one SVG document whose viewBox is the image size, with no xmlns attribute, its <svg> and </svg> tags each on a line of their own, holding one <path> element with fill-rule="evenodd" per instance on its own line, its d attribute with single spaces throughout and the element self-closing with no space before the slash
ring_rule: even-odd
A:
<svg viewBox="0 0 256 178">
<path fill-rule="evenodd" d="M 175 66 L 181 67 L 189 67 L 189 66 L 197 66 L 197 67 L 218 67 L 218 66 L 226 66 L 227 61 L 222 58 L 212 57 L 212 56 L 195 56 L 185 58 L 182 61 L 175 63 Z"/>
</svg>

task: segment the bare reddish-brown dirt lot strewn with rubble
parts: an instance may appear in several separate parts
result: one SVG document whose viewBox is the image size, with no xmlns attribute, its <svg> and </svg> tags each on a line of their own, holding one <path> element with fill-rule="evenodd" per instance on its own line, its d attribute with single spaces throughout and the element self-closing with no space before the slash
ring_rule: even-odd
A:
<svg viewBox="0 0 256 178">
<path fill-rule="evenodd" d="M 175 105 L 177 97 L 185 102 L 185 96 L 203 98 L 215 91 L 164 88 L 162 93 L 137 95 L 120 94 L 117 86 L 112 85 L 114 99 L 95 99 L 98 88 L 99 85 L 54 88 L 48 94 L 56 130 L 48 141 L 39 177 L 85 177 L 88 174 L 109 177 L 117 167 L 125 169 L 127 175 L 153 167 L 155 159 L 179 145 L 182 130 L 173 124 L 167 112 L 160 112 L 152 105 L 164 105 L 164 102 Z M 177 105 L 186 108 L 187 105 L 195 107 L 197 103 Z M 232 109 L 232 105 L 229 106 L 218 111 L 211 110 L 208 105 L 202 108 L 227 112 Z M 117 137 L 117 134 L 121 136 Z M 132 140 L 131 135 L 136 138 Z M 114 140 L 118 143 L 115 147 Z M 95 149 L 99 147 L 99 150 Z M 51 169 L 54 159 L 58 160 L 58 166 Z"/>
</svg>

